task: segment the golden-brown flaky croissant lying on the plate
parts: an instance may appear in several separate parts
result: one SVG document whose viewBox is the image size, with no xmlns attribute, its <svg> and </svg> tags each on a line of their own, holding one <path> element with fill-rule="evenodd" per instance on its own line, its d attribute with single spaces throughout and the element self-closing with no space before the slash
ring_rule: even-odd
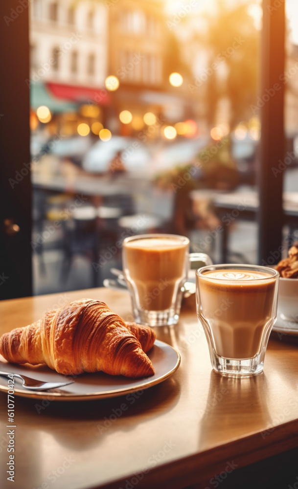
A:
<svg viewBox="0 0 298 489">
<path fill-rule="evenodd" d="M 101 370 L 140 378 L 155 373 L 145 354 L 155 339 L 151 328 L 125 323 L 104 302 L 81 299 L 4 333 L 0 354 L 12 363 L 46 363 L 59 374 Z"/>
</svg>

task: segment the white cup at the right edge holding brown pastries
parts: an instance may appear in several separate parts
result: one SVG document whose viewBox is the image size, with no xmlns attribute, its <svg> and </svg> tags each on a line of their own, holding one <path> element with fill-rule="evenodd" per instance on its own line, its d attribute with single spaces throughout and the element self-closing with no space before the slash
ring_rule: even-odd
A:
<svg viewBox="0 0 298 489">
<path fill-rule="evenodd" d="M 298 278 L 279 277 L 277 318 L 298 323 Z"/>
</svg>

